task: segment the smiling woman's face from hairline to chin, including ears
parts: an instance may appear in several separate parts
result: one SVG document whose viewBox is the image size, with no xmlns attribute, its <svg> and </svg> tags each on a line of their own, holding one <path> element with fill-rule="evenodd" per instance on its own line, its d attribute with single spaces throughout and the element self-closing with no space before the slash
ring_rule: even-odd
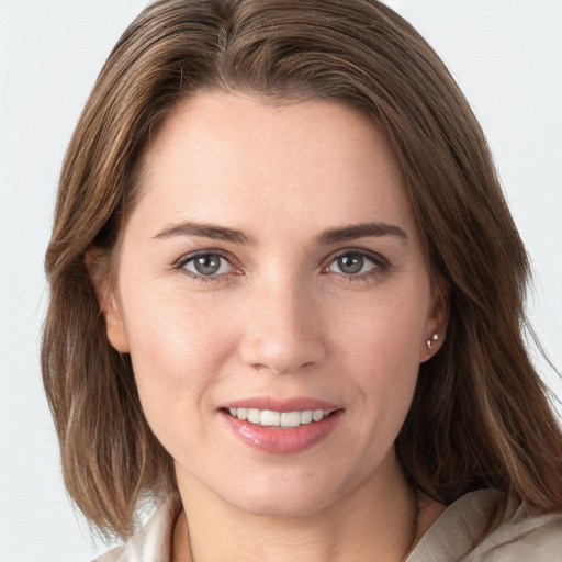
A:
<svg viewBox="0 0 562 562">
<path fill-rule="evenodd" d="M 385 138 L 335 102 L 205 93 L 144 166 L 104 313 L 180 490 L 303 515 L 384 486 L 445 322 Z"/>
</svg>

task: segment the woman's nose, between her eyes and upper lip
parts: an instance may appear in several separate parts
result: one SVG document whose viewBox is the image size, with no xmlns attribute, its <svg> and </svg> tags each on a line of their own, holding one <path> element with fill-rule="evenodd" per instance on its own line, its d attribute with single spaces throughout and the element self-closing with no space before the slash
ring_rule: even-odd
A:
<svg viewBox="0 0 562 562">
<path fill-rule="evenodd" d="M 295 281 L 277 279 L 252 291 L 245 307 L 241 360 L 273 374 L 319 366 L 327 355 L 322 304 Z"/>
</svg>

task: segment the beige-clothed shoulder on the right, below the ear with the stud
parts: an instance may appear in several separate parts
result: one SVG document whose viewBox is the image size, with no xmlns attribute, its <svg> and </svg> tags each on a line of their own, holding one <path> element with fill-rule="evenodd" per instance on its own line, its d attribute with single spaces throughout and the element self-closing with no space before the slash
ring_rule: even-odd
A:
<svg viewBox="0 0 562 562">
<path fill-rule="evenodd" d="M 503 514 L 499 521 L 494 517 Z M 492 530 L 488 531 L 492 526 Z M 554 562 L 562 560 L 562 514 L 544 514 L 480 490 L 451 504 L 407 562 Z"/>
</svg>

